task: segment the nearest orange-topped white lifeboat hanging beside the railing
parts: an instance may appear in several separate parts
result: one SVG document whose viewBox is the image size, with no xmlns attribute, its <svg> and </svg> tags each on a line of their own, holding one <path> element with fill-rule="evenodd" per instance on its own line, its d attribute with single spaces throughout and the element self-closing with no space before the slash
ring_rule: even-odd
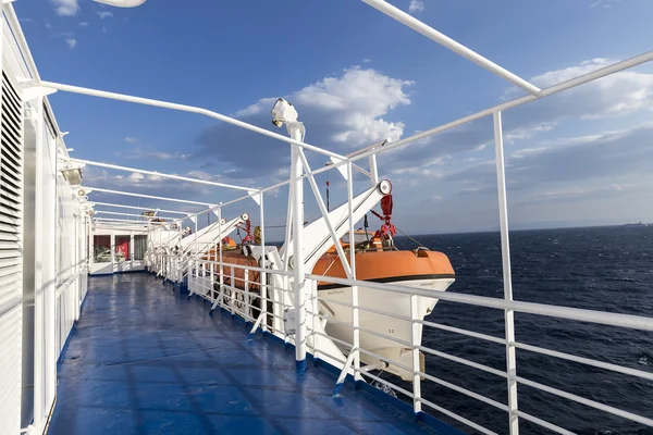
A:
<svg viewBox="0 0 653 435">
<path fill-rule="evenodd" d="M 324 272 L 321 273 L 322 275 L 345 277 L 337 256 L 334 258 L 324 256 L 316 264 L 315 274 L 320 274 L 320 271 Z M 372 251 L 356 254 L 356 276 L 361 281 L 389 283 L 432 293 L 431 297 L 416 296 L 416 319 L 418 321 L 423 320 L 433 311 L 438 303 L 438 294 L 446 291 L 455 281 L 453 268 L 446 256 L 426 250 L 417 252 Z M 353 309 L 343 304 L 352 303 L 352 287 L 321 282 L 318 284 L 318 297 L 322 299 L 319 307 L 320 313 L 335 320 L 335 322 L 326 322 L 324 325 L 326 334 L 343 341 L 353 343 L 350 326 Z M 330 300 L 341 303 L 330 303 Z M 366 286 L 358 287 L 360 348 L 383 357 L 381 360 L 361 352 L 360 360 L 365 364 L 385 366 L 385 371 L 397 374 L 405 381 L 412 381 L 412 373 L 401 365 L 412 366 L 412 355 L 411 349 L 401 341 L 412 343 L 412 327 L 410 321 L 396 316 L 410 318 L 410 295 L 383 291 Z M 346 322 L 348 325 L 340 322 Z M 422 325 L 417 324 L 416 326 L 415 344 L 420 346 Z M 342 348 L 342 350 L 347 353 L 349 349 Z M 393 362 L 399 365 L 393 364 Z"/>
</svg>

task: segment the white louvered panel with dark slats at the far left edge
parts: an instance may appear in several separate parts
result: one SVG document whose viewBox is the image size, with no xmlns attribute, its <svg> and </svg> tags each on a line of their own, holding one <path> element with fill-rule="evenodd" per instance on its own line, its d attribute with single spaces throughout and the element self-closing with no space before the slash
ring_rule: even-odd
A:
<svg viewBox="0 0 653 435">
<path fill-rule="evenodd" d="M 22 388 L 23 104 L 5 72 L 0 113 L 0 434 L 17 434 Z"/>
</svg>

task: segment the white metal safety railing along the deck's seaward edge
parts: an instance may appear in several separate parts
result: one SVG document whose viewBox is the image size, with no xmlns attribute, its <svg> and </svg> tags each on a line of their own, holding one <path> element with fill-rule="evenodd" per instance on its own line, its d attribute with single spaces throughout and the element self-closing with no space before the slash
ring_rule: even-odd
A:
<svg viewBox="0 0 653 435">
<path fill-rule="evenodd" d="M 174 256 L 161 256 L 161 257 L 170 258 L 170 257 L 174 257 Z M 164 262 L 165 262 L 165 260 L 161 259 L 160 264 L 164 263 Z M 223 275 L 223 274 L 221 275 L 220 271 L 223 271 L 224 270 L 223 268 L 225 268 L 225 266 L 230 268 L 231 272 L 229 275 Z M 237 270 L 237 269 L 243 270 L 243 277 L 235 276 L 235 270 Z M 263 273 L 270 274 L 269 276 L 279 275 L 279 276 L 282 276 L 285 278 L 293 276 L 293 272 L 278 271 L 278 270 L 273 270 L 273 269 L 263 269 L 263 268 L 257 268 L 257 266 L 250 266 L 250 265 L 244 265 L 244 264 L 232 264 L 232 263 L 212 261 L 212 260 L 190 259 L 188 262 L 188 290 L 189 290 L 190 295 L 195 294 L 205 299 L 210 300 L 212 302 L 211 310 L 215 309 L 217 307 L 221 307 L 221 308 L 225 309 L 226 311 L 231 312 L 232 314 L 239 315 L 243 319 L 245 319 L 246 321 L 252 322 L 254 327 L 250 331 L 250 336 L 257 330 L 260 328 L 261 331 L 266 331 L 268 333 L 274 334 L 274 335 L 283 338 L 285 343 L 294 343 L 294 340 L 292 339 L 292 336 L 285 334 L 284 331 L 274 330 L 273 327 L 268 325 L 268 322 L 267 322 L 268 316 L 276 318 L 276 319 L 283 321 L 282 315 L 279 315 L 279 314 L 275 314 L 274 312 L 268 311 L 269 302 L 272 303 L 273 306 L 274 304 L 281 306 L 282 309 L 280 310 L 280 312 L 283 312 L 284 309 L 292 307 L 292 302 L 284 303 L 283 299 L 281 301 L 270 299 L 268 297 L 268 290 L 280 290 L 285 294 L 292 295 L 293 294 L 293 290 L 291 289 L 292 285 L 288 285 L 287 288 L 280 288 L 278 286 L 273 286 L 271 284 L 259 283 L 257 281 L 252 281 L 249 278 L 251 272 L 259 272 L 259 273 L 263 272 Z M 175 273 L 173 273 L 173 274 L 175 274 Z M 176 276 L 180 276 L 180 275 L 176 274 Z M 224 284 L 225 278 L 229 278 L 229 283 L 230 283 L 229 285 Z M 483 427 L 464 417 L 456 414 L 453 411 L 447 410 L 446 408 L 444 408 L 442 406 L 439 406 L 439 405 L 421 397 L 422 382 L 430 381 L 438 385 L 441 385 L 443 387 L 452 389 L 454 391 L 466 395 L 475 400 L 482 401 L 482 402 L 490 405 L 502 411 L 509 412 L 509 407 L 504 403 L 501 403 L 496 400 L 493 400 L 493 399 L 484 397 L 480 394 L 473 393 L 469 389 L 463 388 L 460 386 L 457 386 L 455 384 L 452 384 L 449 382 L 441 380 L 432 374 L 422 372 L 420 370 L 419 357 L 418 357 L 418 355 L 419 355 L 418 352 L 422 351 L 422 352 L 433 355 L 433 356 L 436 356 L 440 358 L 444 358 L 446 360 L 449 360 L 449 361 L 453 361 L 453 362 L 456 362 L 456 363 L 459 363 L 459 364 L 463 364 L 463 365 L 466 365 L 466 366 L 469 366 L 472 369 L 483 371 L 485 373 L 493 374 L 495 376 L 498 376 L 498 377 L 502 377 L 505 380 L 513 380 L 514 382 L 516 382 L 518 384 L 527 385 L 532 388 L 552 394 L 554 396 L 558 396 L 560 398 L 572 400 L 578 403 L 582 403 L 588 407 L 591 407 L 591 408 L 594 408 L 594 409 L 597 409 L 597 410 L 601 410 L 601 411 L 604 411 L 604 412 L 607 412 L 607 413 L 611 413 L 614 415 L 618 415 L 620 418 L 653 427 L 653 420 L 649 419 L 646 417 L 639 415 L 633 412 L 629 412 L 629 411 L 626 411 L 626 410 L 623 410 L 619 408 L 615 408 L 612 406 L 607 406 L 607 405 L 597 402 L 595 400 L 587 399 L 587 398 L 580 397 L 575 394 L 567 393 L 567 391 L 558 389 L 558 388 L 550 387 L 547 385 L 525 378 L 522 376 L 518 376 L 516 372 L 508 373 L 506 371 L 497 370 L 497 369 L 488 366 L 485 364 L 481 364 L 478 362 L 467 360 L 465 358 L 456 357 L 456 356 L 453 356 L 453 355 L 449 355 L 449 353 L 446 353 L 446 352 L 443 352 L 440 350 L 428 348 L 426 346 L 417 345 L 416 344 L 417 336 L 415 334 L 412 335 L 411 341 L 405 341 L 405 340 L 401 340 L 398 338 L 395 338 L 395 337 L 392 337 L 392 336 L 389 336 L 385 334 L 381 334 L 381 333 L 378 333 L 374 331 L 370 331 L 370 330 L 360 327 L 358 325 L 354 325 L 350 322 L 338 321 L 336 319 L 333 319 L 329 314 L 321 314 L 319 312 L 318 306 L 319 306 L 319 302 L 341 304 L 341 306 L 349 307 L 353 310 L 367 311 L 367 312 L 386 315 L 389 318 L 395 318 L 395 319 L 408 321 L 408 322 L 411 322 L 411 325 L 414 325 L 414 326 L 421 324 L 421 325 L 439 328 L 442 331 L 447 331 L 447 332 L 461 334 L 461 335 L 466 335 L 469 337 L 491 341 L 494 344 L 500 344 L 500 345 L 506 346 L 506 348 L 522 349 L 522 350 L 527 350 L 527 351 L 531 351 L 531 352 L 535 352 L 535 353 L 540 353 L 540 355 L 544 355 L 544 356 L 549 356 L 549 357 L 553 357 L 553 358 L 558 358 L 558 359 L 566 360 L 566 361 L 574 361 L 574 362 L 578 362 L 578 363 L 586 364 L 586 365 L 591 365 L 591 366 L 599 368 L 599 369 L 609 370 L 609 371 L 614 371 L 617 373 L 640 377 L 640 378 L 648 380 L 648 381 L 653 381 L 653 373 L 651 373 L 651 372 L 626 368 L 626 366 L 621 366 L 618 364 L 613 364 L 613 363 L 594 360 L 594 359 L 590 359 L 590 358 L 578 357 L 578 356 L 575 356 L 571 353 L 551 350 L 551 349 L 546 349 L 546 348 L 539 347 L 539 346 L 527 345 L 523 343 L 519 343 L 517 340 L 506 340 L 505 338 L 500 338 L 500 337 L 495 337 L 495 336 L 491 336 L 491 335 L 486 335 L 486 334 L 481 334 L 481 333 L 477 333 L 477 332 L 472 332 L 472 331 L 468 331 L 468 330 L 464 330 L 464 328 L 459 328 L 459 327 L 453 327 L 453 326 L 440 324 L 436 322 L 416 319 L 415 318 L 416 310 L 414 309 L 416 297 L 417 296 L 432 297 L 433 294 L 432 294 L 432 291 L 429 291 L 429 290 L 423 290 L 423 289 L 412 288 L 412 287 L 407 287 L 407 286 L 401 286 L 401 285 L 373 283 L 373 282 L 367 282 L 367 281 L 364 282 L 364 281 L 358 281 L 358 279 L 336 278 L 336 277 L 331 277 L 331 276 L 312 275 L 312 274 L 307 274 L 306 278 L 307 278 L 309 288 L 311 288 L 311 297 L 308 298 L 309 299 L 309 303 L 308 303 L 309 309 L 306 310 L 306 313 L 313 316 L 313 322 L 317 322 L 319 320 L 326 320 L 326 322 L 334 322 L 334 323 L 343 324 L 343 325 L 350 327 L 353 331 L 353 336 L 354 336 L 354 332 L 358 331 L 358 332 L 364 332 L 366 334 L 374 335 L 374 336 L 378 336 L 378 337 L 381 337 L 384 339 L 393 340 L 395 343 L 401 344 L 402 346 L 405 346 L 406 348 L 409 348 L 414 352 L 414 357 L 417 356 L 417 358 L 412 358 L 412 366 L 407 366 L 399 361 L 395 361 L 395 360 L 389 359 L 387 357 L 377 355 L 368 349 L 360 348 L 360 346 L 355 345 L 354 343 L 344 341 L 342 339 L 337 339 L 337 338 L 331 337 L 326 334 L 323 334 L 319 331 L 316 331 L 313 327 L 308 327 L 309 335 L 306 337 L 307 340 L 311 335 L 313 335 L 313 336 L 320 335 L 320 336 L 324 336 L 325 338 L 333 340 L 334 343 L 337 343 L 341 346 L 344 346 L 344 347 L 350 349 L 347 359 L 343 360 L 338 356 L 330 355 L 323 350 L 315 349 L 315 347 L 311 348 L 310 344 L 308 346 L 309 350 L 313 353 L 313 357 L 316 359 L 319 359 L 320 353 L 323 353 L 323 355 L 330 357 L 332 360 L 337 361 L 341 364 L 340 369 L 343 372 L 337 381 L 335 391 L 340 390 L 338 385 L 342 385 L 342 383 L 345 380 L 346 374 L 350 373 L 358 380 L 361 378 L 361 376 L 367 377 L 369 380 L 373 380 L 380 384 L 383 384 L 383 385 L 387 386 L 389 388 L 392 388 L 393 390 L 403 394 L 404 396 L 407 396 L 408 398 L 410 398 L 412 400 L 414 411 L 416 413 L 422 411 L 422 405 L 423 405 L 434 411 L 441 412 L 454 420 L 457 420 L 458 422 L 460 422 L 469 427 L 472 427 L 476 431 L 479 431 L 483 434 L 495 434 L 495 432 L 493 432 L 486 427 Z M 375 310 L 375 309 L 366 308 L 360 304 L 347 303 L 347 302 L 343 302 L 343 301 L 336 301 L 333 299 L 319 297 L 318 291 L 317 291 L 317 283 L 318 282 L 338 284 L 338 285 L 343 285 L 343 286 L 347 286 L 347 287 L 350 286 L 353 288 L 353 293 L 352 293 L 353 299 L 357 299 L 358 286 L 365 286 L 367 288 L 372 288 L 372 289 L 379 290 L 379 291 L 390 291 L 390 293 L 409 295 L 411 297 L 411 306 L 412 306 L 411 307 L 411 316 L 399 315 L 399 314 L 395 314 L 395 313 L 387 312 L 387 311 L 380 311 L 380 310 Z M 215 284 L 218 284 L 218 286 L 214 287 Z M 238 288 L 236 286 L 238 284 L 241 284 L 243 286 L 243 288 Z M 258 291 L 258 293 L 250 291 L 250 286 L 252 284 L 259 286 L 260 291 Z M 215 295 L 215 296 L 213 296 L 213 295 Z M 242 299 L 238 298 L 238 295 L 242 297 Z M 626 328 L 634 328 L 634 330 L 641 330 L 641 331 L 653 331 L 653 318 L 645 318 L 645 316 L 639 316 L 639 315 L 618 314 L 618 313 L 602 312 L 602 311 L 594 311 L 594 310 L 584 310 L 584 309 L 578 309 L 578 308 L 559 307 L 559 306 L 551 306 L 551 304 L 534 303 L 534 302 L 521 302 L 521 301 L 515 301 L 515 300 L 505 300 L 505 299 L 489 298 L 489 297 L 483 297 L 483 296 L 463 295 L 463 294 L 445 293 L 445 291 L 439 291 L 438 299 L 446 300 L 446 301 L 451 301 L 451 302 L 457 302 L 457 303 L 472 304 L 472 306 L 477 306 L 477 307 L 497 309 L 497 310 L 503 310 L 504 312 L 513 311 L 513 312 L 520 312 L 520 313 L 537 314 L 537 315 L 542 315 L 542 316 L 547 316 L 547 318 L 582 321 L 582 322 L 611 325 L 611 326 L 619 326 L 619 327 L 626 327 Z M 259 312 L 257 318 L 255 318 L 252 315 L 255 311 Z M 315 323 L 312 323 L 312 324 L 315 325 Z M 365 365 L 360 366 L 357 364 L 353 364 L 355 359 L 359 360 L 360 353 L 369 355 L 371 357 L 378 358 L 379 360 L 381 360 L 383 362 L 392 363 L 393 365 L 396 365 L 401 369 L 407 370 L 408 372 L 412 373 L 412 375 L 414 375 L 414 380 L 412 380 L 412 384 L 411 384 L 412 390 L 409 391 L 398 385 L 391 383 L 387 380 L 381 378 L 379 376 L 373 375 L 372 373 L 369 373 L 368 371 L 366 371 Z M 566 428 L 559 427 L 556 424 L 544 421 L 542 419 L 539 419 L 539 418 L 531 415 L 529 413 L 526 413 L 523 411 L 517 410 L 517 414 L 520 418 L 522 418 L 529 422 L 532 422 L 534 424 L 538 424 L 542 427 L 545 427 L 550 431 L 553 431 L 553 432 L 556 432 L 559 434 L 572 434 L 572 432 L 570 432 Z"/>
</svg>

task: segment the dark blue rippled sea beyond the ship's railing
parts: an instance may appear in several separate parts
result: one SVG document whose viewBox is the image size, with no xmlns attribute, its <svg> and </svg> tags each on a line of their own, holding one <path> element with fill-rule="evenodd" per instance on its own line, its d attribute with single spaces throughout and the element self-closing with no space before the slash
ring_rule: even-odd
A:
<svg viewBox="0 0 653 435">
<path fill-rule="evenodd" d="M 510 232 L 514 299 L 653 318 L 653 226 L 603 226 Z M 448 291 L 503 298 L 498 233 L 415 236 L 445 252 L 456 282 Z M 397 237 L 401 249 L 415 241 Z M 504 312 L 440 301 L 427 320 L 504 336 Z M 516 313 L 520 343 L 653 372 L 653 333 Z M 505 347 L 424 327 L 422 344 L 497 370 L 506 368 Z M 498 402 L 507 403 L 506 380 L 432 355 L 427 373 Z M 517 349 L 517 375 L 600 403 L 653 419 L 653 381 Z M 396 380 L 396 377 L 394 377 Z M 508 432 L 507 412 L 422 381 L 426 399 L 500 434 Z M 402 385 L 410 390 L 410 385 Z M 653 434 L 653 428 L 604 411 L 518 386 L 519 410 L 578 434 Z M 398 395 L 401 397 L 401 394 Z M 424 410 L 428 407 L 424 406 Z M 465 433 L 475 430 L 429 410 Z M 551 432 L 521 419 L 523 434 Z"/>
</svg>

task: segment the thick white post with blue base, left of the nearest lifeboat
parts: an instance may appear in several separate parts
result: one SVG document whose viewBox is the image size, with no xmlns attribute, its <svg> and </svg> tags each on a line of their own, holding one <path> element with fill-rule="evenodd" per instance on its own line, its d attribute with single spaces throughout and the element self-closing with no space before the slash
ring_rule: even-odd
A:
<svg viewBox="0 0 653 435">
<path fill-rule="evenodd" d="M 287 124 L 291 138 L 301 141 L 304 126 L 299 122 Z M 306 371 L 306 275 L 304 272 L 304 178 L 299 147 L 291 146 L 292 185 L 293 185 L 293 264 L 295 290 L 295 366 L 297 371 Z"/>
</svg>

